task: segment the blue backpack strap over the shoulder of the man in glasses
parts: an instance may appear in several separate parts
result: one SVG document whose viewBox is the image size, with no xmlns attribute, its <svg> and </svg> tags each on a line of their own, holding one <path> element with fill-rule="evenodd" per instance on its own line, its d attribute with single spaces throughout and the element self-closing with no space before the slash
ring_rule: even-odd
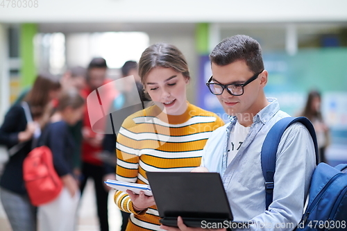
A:
<svg viewBox="0 0 347 231">
<path fill-rule="evenodd" d="M 266 210 L 269 209 L 269 205 L 273 200 L 273 188 L 275 187 L 273 182 L 273 176 L 276 169 L 276 153 L 278 144 L 283 132 L 295 122 L 301 122 L 310 132 L 314 150 L 316 151 L 316 164 L 319 164 L 318 146 L 316 141 L 316 132 L 310 120 L 306 117 L 285 117 L 275 123 L 266 135 L 264 143 L 262 144 L 262 152 L 260 154 L 262 160 L 262 175 L 265 179 L 265 191 L 266 191 Z"/>
</svg>

